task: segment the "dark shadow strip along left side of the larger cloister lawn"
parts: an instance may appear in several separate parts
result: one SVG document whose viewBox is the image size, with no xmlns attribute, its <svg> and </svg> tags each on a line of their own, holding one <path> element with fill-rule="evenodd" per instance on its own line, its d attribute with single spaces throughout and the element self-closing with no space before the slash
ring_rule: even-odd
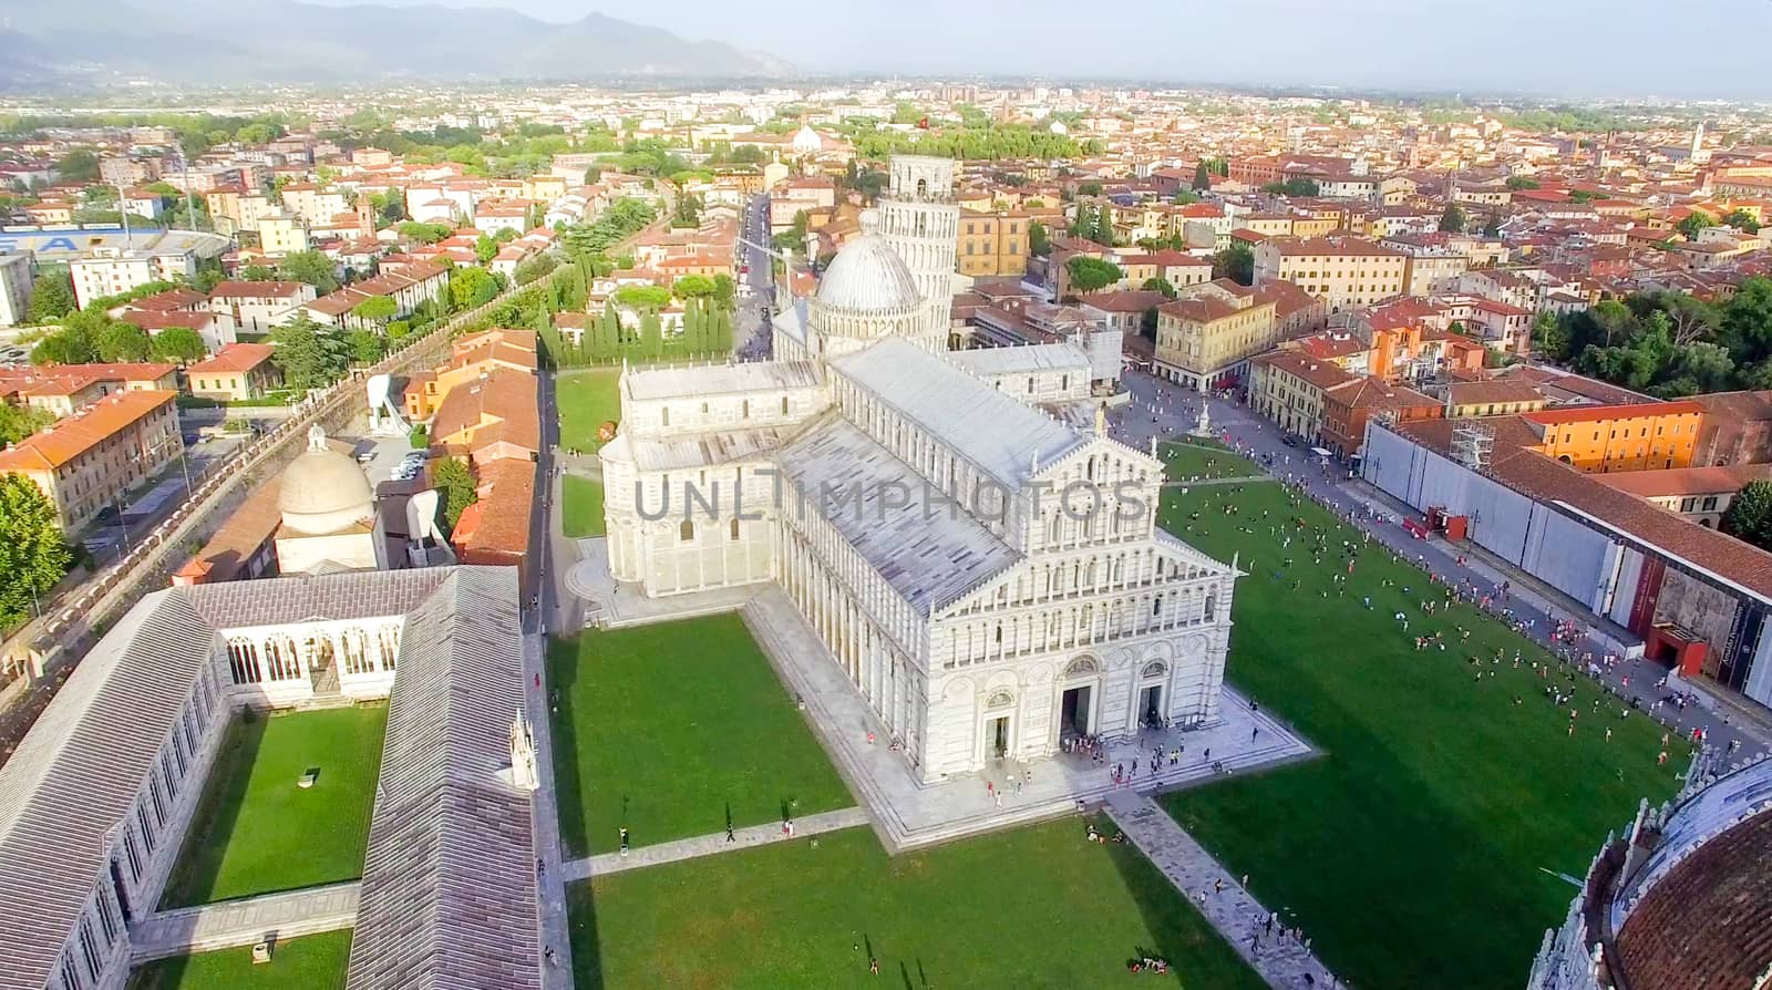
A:
<svg viewBox="0 0 1772 990">
<path fill-rule="evenodd" d="M 248 836 L 234 834 L 234 824 L 239 822 L 241 808 L 246 804 L 252 765 L 259 760 L 268 724 L 269 717 L 252 708 L 241 710 L 229 723 L 214 765 L 209 769 L 204 795 L 184 831 L 184 847 L 179 850 L 172 877 L 167 878 L 159 910 L 207 903 L 222 873 L 229 841 L 250 841 Z M 175 985 L 177 981 L 168 983 Z"/>
</svg>

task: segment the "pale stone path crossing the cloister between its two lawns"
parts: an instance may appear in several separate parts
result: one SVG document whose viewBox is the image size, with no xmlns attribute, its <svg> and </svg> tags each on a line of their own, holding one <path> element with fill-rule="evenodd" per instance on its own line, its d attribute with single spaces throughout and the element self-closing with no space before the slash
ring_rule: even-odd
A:
<svg viewBox="0 0 1772 990">
<path fill-rule="evenodd" d="M 252 946 L 356 924 L 358 882 L 161 910 L 129 930 L 133 962 Z"/>
</svg>

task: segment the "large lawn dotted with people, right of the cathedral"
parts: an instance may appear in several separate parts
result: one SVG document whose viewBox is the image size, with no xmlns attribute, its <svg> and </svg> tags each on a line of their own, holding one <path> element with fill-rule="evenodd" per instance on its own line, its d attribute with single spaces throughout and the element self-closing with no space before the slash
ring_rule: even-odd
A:
<svg viewBox="0 0 1772 990">
<path fill-rule="evenodd" d="M 1235 517 L 1224 514 L 1232 503 Z M 1311 530 L 1329 528 L 1322 565 L 1310 537 L 1279 549 L 1269 533 L 1301 514 Z M 1228 675 L 1327 751 L 1170 795 L 1168 809 L 1230 871 L 1247 871 L 1263 903 L 1294 912 L 1356 986 L 1519 986 L 1574 894 L 1540 868 L 1586 873 L 1637 799 L 1673 792 L 1685 749 L 1657 769 L 1662 730 L 1620 719 L 1616 703 L 1595 710 L 1598 691 L 1584 678 L 1574 684 L 1581 717 L 1570 737 L 1568 710 L 1552 708 L 1549 682 L 1529 666 L 1545 654 L 1467 607 L 1425 616 L 1421 599 L 1439 595 L 1377 544 L 1359 553 L 1338 597 L 1341 540 L 1361 537 L 1311 503 L 1288 505 L 1279 485 L 1170 492 L 1162 521 L 1219 560 L 1240 551 L 1249 576 L 1237 583 Z M 1435 629 L 1448 632 L 1446 650 L 1416 652 L 1412 638 Z M 1490 664 L 1497 648 L 1504 662 Z M 1550 682 L 1570 687 L 1561 673 Z"/>
</svg>

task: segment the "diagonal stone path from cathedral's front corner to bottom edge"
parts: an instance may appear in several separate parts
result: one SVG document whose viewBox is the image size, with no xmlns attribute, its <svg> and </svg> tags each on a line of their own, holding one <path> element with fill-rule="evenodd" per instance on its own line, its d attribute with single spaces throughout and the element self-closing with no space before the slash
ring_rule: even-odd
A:
<svg viewBox="0 0 1772 990">
<path fill-rule="evenodd" d="M 1340 986 L 1301 940 L 1281 933 L 1288 919 L 1276 921 L 1269 932 L 1267 917 L 1272 912 L 1182 831 L 1175 818 L 1157 808 L 1155 801 L 1136 792 L 1115 792 L 1108 797 L 1108 815 L 1269 986 Z M 1224 882 L 1224 889 L 1214 893 L 1217 880 Z"/>
</svg>

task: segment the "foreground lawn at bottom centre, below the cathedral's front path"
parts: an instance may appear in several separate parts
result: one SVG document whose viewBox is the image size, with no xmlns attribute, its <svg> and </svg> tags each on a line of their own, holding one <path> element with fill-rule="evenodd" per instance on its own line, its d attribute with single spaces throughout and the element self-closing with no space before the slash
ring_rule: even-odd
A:
<svg viewBox="0 0 1772 990">
<path fill-rule="evenodd" d="M 579 990 L 1265 986 L 1150 861 L 1077 818 L 898 857 L 847 829 L 601 877 L 569 909 Z M 1125 971 L 1146 953 L 1170 974 Z"/>
</svg>

